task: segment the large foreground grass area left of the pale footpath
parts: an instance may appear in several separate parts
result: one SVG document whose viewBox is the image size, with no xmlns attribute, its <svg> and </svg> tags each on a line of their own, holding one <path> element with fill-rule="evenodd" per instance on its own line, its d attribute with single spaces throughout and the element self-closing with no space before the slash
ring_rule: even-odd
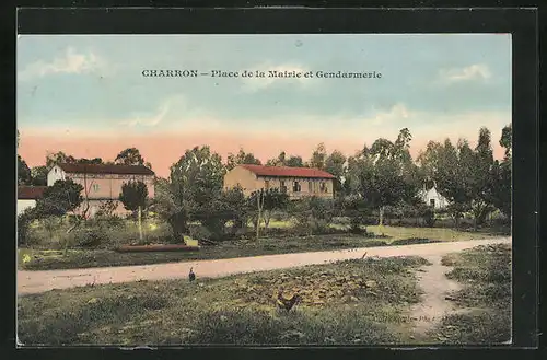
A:
<svg viewBox="0 0 547 360">
<path fill-rule="evenodd" d="M 347 260 L 197 282 L 170 280 L 20 297 L 26 345 L 400 344 L 419 257 Z M 291 312 L 274 295 L 299 291 Z"/>
</svg>

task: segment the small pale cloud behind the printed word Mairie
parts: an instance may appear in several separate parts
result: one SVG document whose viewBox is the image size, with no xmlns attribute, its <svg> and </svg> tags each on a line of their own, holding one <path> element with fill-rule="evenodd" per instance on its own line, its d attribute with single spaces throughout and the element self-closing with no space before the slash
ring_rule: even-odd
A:
<svg viewBox="0 0 547 360">
<path fill-rule="evenodd" d="M 278 66 L 270 66 L 270 65 L 261 65 L 261 66 L 256 66 L 252 69 L 249 69 L 253 73 L 256 71 L 263 71 L 266 73 L 266 78 L 242 78 L 243 82 L 243 90 L 247 92 L 256 92 L 259 90 L 264 90 L 266 88 L 271 86 L 275 83 L 299 83 L 301 85 L 305 85 L 310 83 L 311 79 L 305 79 L 305 78 L 277 78 L 277 77 L 268 77 L 269 71 L 277 71 L 277 72 L 296 72 L 296 73 L 304 73 L 309 71 L 307 68 L 299 66 L 299 65 L 278 65 Z"/>
</svg>

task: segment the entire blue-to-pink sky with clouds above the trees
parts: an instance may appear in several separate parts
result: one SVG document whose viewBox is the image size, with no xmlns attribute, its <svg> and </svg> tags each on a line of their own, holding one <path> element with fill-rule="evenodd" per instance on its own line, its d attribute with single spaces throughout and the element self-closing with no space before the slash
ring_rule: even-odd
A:
<svg viewBox="0 0 547 360">
<path fill-rule="evenodd" d="M 238 78 L 143 77 L 143 70 L 237 71 Z M 248 70 L 312 78 L 242 78 Z M 324 72 L 380 79 L 317 78 Z M 114 160 L 136 147 L 159 176 L 186 149 L 208 144 L 225 160 L 240 148 L 263 162 L 280 151 L 307 160 L 352 155 L 377 138 L 412 135 L 473 144 L 498 141 L 511 123 L 509 34 L 20 35 L 19 154 Z"/>
</svg>

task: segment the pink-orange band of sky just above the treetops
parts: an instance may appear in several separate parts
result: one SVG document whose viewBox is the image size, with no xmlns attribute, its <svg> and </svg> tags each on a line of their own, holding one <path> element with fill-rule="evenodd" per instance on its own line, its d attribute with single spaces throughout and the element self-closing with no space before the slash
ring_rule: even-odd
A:
<svg viewBox="0 0 547 360">
<path fill-rule="evenodd" d="M 415 138 L 412 155 L 426 147 L 429 139 Z M 442 139 L 433 139 L 442 140 Z M 327 152 L 337 149 L 346 155 L 352 155 L 362 149 L 366 142 L 349 139 L 324 140 L 318 138 L 284 138 L 280 136 L 253 137 L 237 135 L 148 135 L 127 136 L 124 138 L 104 137 L 56 137 L 51 135 L 21 135 L 19 154 L 26 161 L 28 166 L 44 165 L 48 151 L 62 151 L 75 158 L 102 158 L 103 160 L 114 160 L 114 158 L 126 148 L 139 149 L 146 161 L 152 164 L 158 176 L 167 177 L 170 166 L 178 161 L 186 149 L 195 146 L 209 144 L 211 150 L 219 153 L 225 161 L 229 152 L 236 153 L 242 147 L 246 152 L 253 152 L 255 156 L 265 163 L 268 159 L 275 158 L 280 151 L 286 151 L 288 155 L 300 155 L 307 160 L 313 149 L 324 142 Z M 473 143 L 473 142 L 472 142 Z M 492 137 L 494 156 L 503 156 L 503 149 Z"/>
</svg>

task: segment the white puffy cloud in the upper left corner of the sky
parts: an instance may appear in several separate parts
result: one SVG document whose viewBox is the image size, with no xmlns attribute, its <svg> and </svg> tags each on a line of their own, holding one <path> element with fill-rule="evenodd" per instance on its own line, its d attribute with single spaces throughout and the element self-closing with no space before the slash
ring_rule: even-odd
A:
<svg viewBox="0 0 547 360">
<path fill-rule="evenodd" d="M 69 47 L 62 56 L 56 57 L 50 62 L 38 60 L 30 63 L 19 72 L 18 79 L 25 81 L 56 73 L 78 74 L 89 73 L 100 69 L 106 69 L 104 59 L 91 51 L 82 54 Z"/>
</svg>

